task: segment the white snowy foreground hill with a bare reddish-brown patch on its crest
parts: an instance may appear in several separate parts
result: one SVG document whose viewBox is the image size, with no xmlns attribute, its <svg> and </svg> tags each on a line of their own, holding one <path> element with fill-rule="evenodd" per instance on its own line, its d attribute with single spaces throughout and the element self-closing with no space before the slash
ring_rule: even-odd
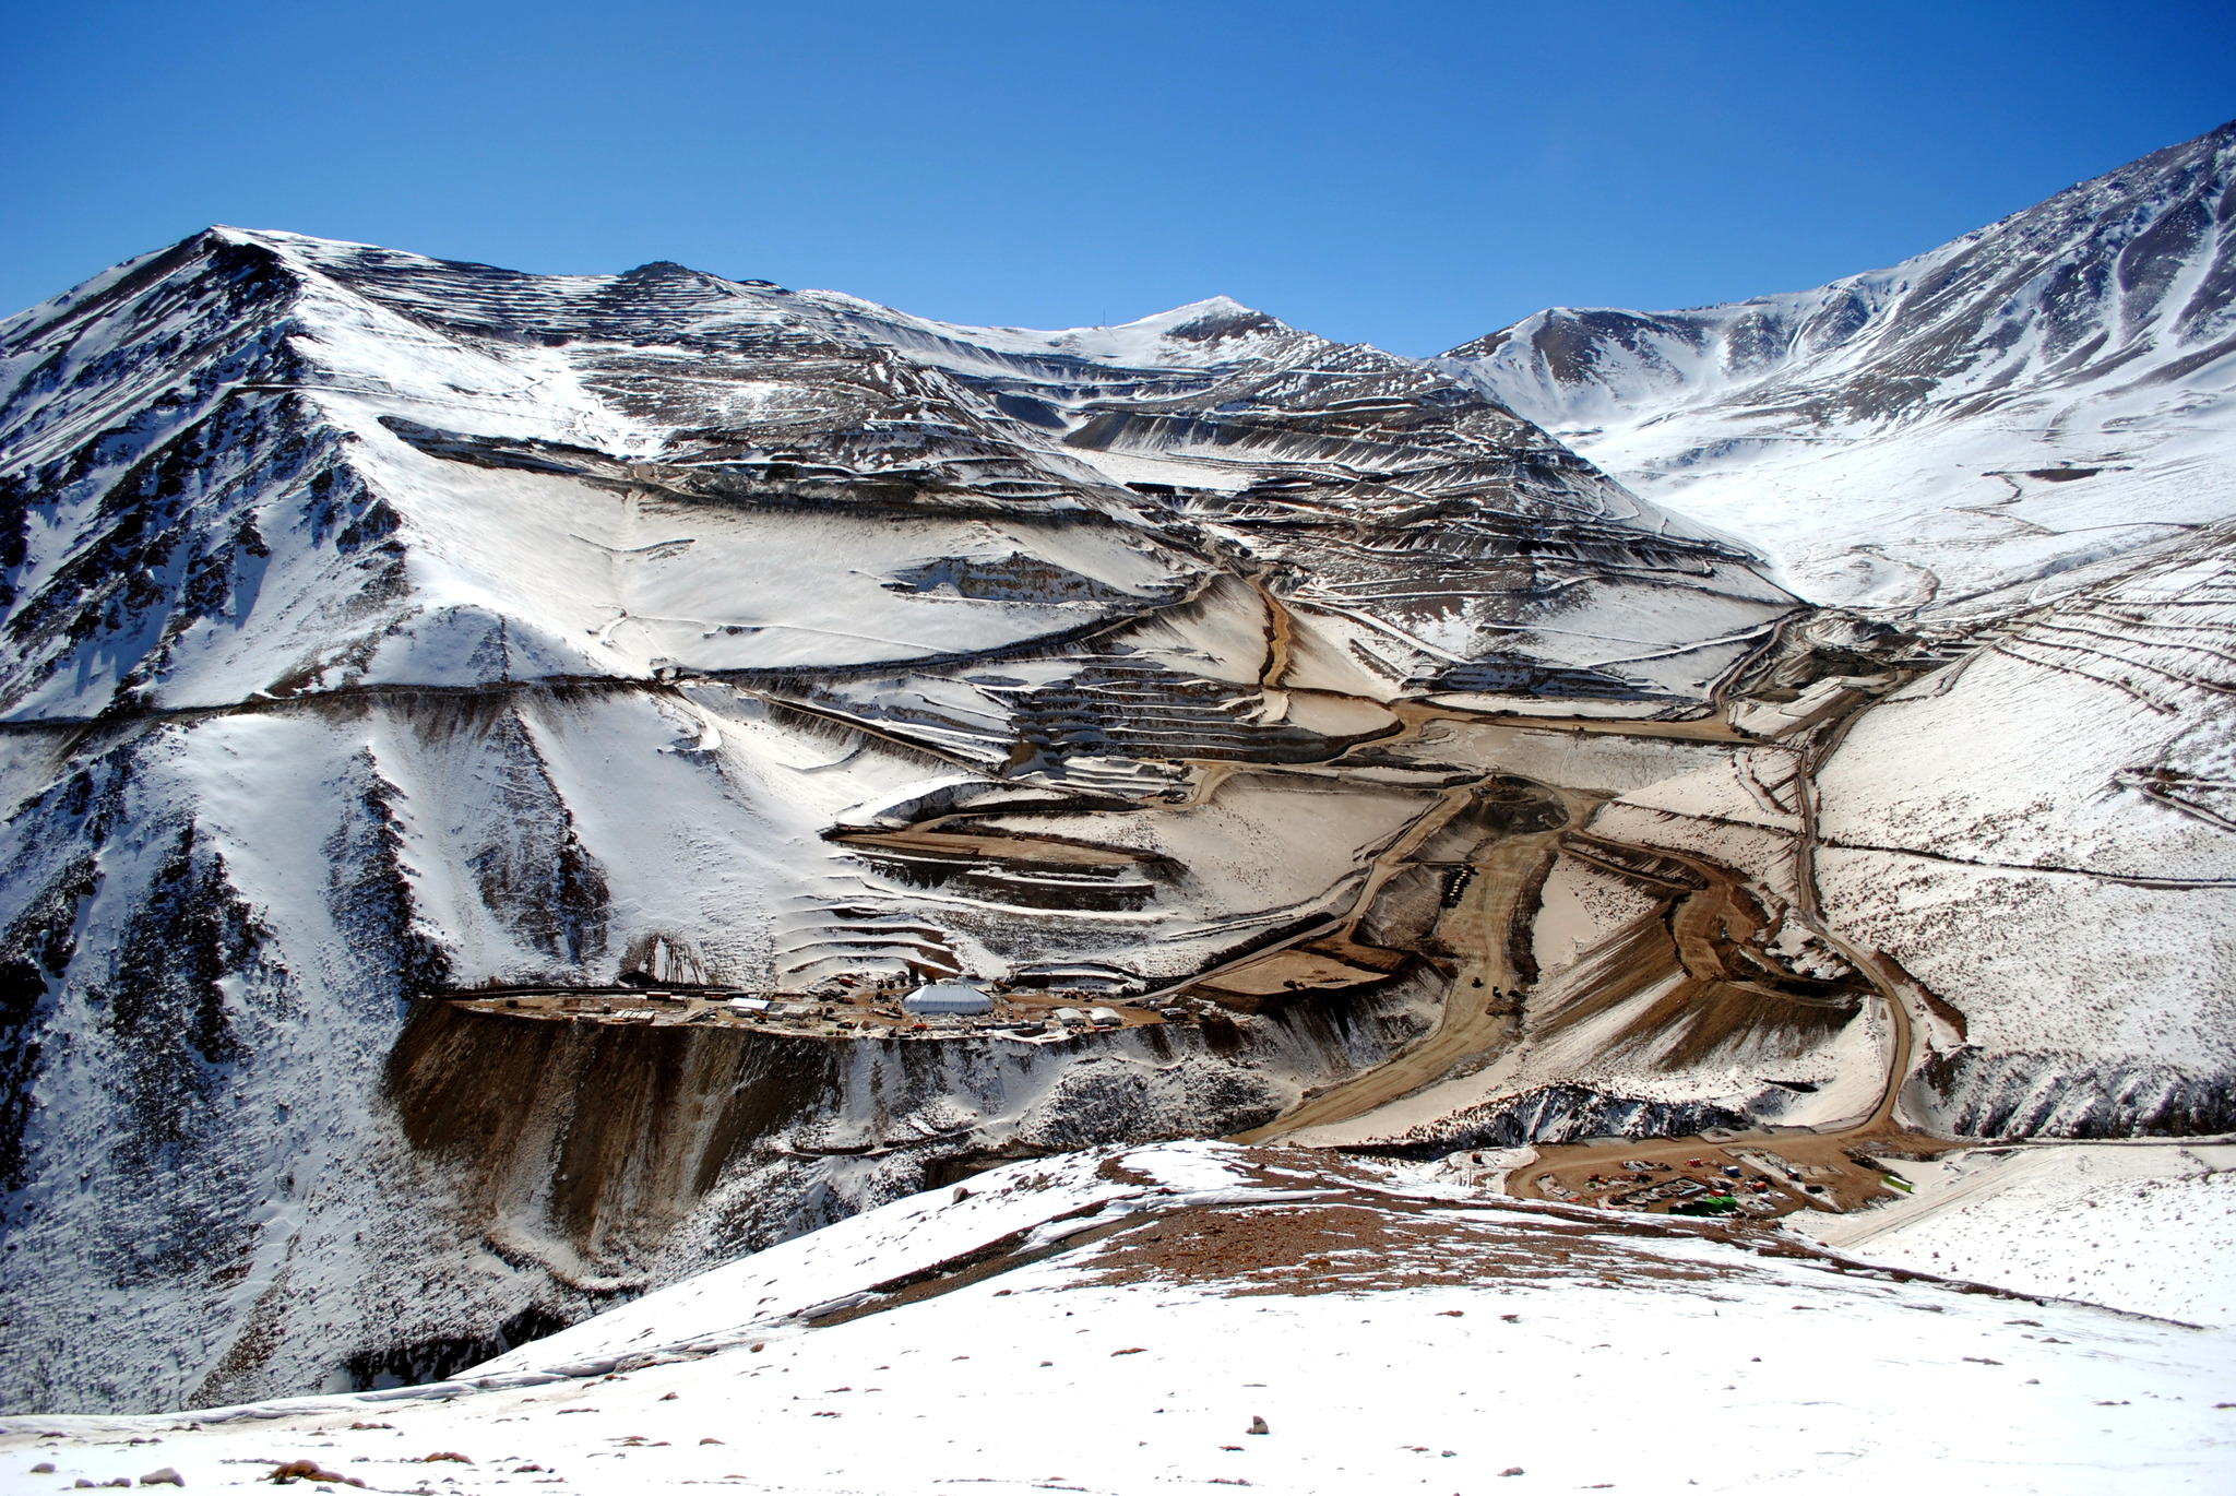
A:
<svg viewBox="0 0 2236 1496">
<path fill-rule="evenodd" d="M 2229 1331 L 1301 1152 L 1073 1154 L 966 1190 L 718 1268 L 463 1382 L 192 1424 L 11 1418 L 0 1485 L 168 1467 L 188 1489 L 246 1487 L 286 1460 L 389 1492 L 2223 1492 L 2236 1476 Z M 946 1281 L 894 1284 L 937 1263 Z M 859 1317 L 798 1317 L 877 1284 Z M 689 1344 L 727 1348 L 660 1351 Z"/>
</svg>

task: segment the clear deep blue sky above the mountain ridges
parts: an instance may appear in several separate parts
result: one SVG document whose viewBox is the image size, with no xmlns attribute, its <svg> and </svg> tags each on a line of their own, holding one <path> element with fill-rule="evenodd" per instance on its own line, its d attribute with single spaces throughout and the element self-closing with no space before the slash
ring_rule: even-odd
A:
<svg viewBox="0 0 2236 1496">
<path fill-rule="evenodd" d="M 1889 264 L 2236 116 L 2229 0 L 0 4 L 0 311 L 219 221 L 1433 353 Z"/>
</svg>

